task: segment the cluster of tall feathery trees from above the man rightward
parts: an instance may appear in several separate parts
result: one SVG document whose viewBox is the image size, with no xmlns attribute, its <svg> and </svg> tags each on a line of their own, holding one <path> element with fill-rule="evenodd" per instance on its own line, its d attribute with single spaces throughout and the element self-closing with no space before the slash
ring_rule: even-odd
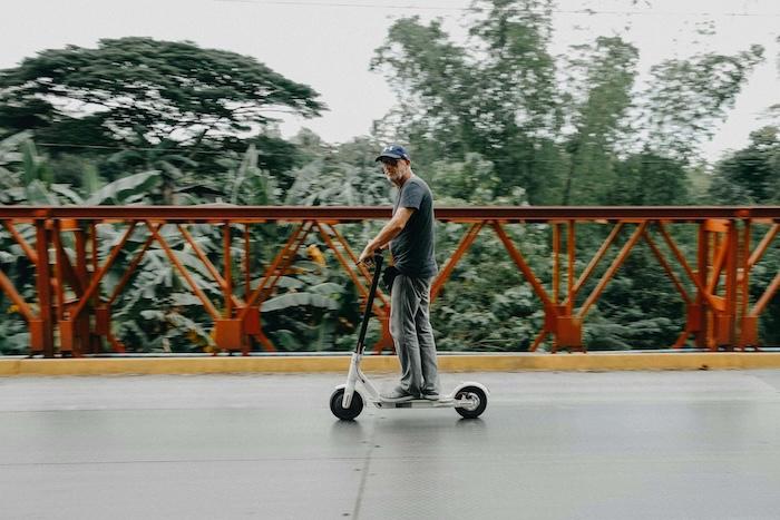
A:
<svg viewBox="0 0 780 520">
<path fill-rule="evenodd" d="M 761 46 L 665 60 L 637 91 L 638 51 L 618 36 L 554 58 L 553 8 L 475 1 L 464 45 L 439 20 L 396 20 L 372 60 L 399 98 L 378 135 L 413 144 L 423 170 L 480 154 L 499 190 L 519 186 L 532 204 L 604 204 L 625 157 L 659 158 L 659 168 L 695 157 L 763 60 Z"/>
</svg>

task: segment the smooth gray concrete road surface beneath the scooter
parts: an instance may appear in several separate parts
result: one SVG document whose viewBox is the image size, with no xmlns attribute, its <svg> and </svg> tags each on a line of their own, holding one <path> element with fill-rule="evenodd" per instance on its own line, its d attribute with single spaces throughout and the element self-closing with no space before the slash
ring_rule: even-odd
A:
<svg viewBox="0 0 780 520">
<path fill-rule="evenodd" d="M 443 374 L 482 418 L 347 423 L 343 379 L 0 379 L 0 518 L 780 518 L 780 371 Z"/>
</svg>

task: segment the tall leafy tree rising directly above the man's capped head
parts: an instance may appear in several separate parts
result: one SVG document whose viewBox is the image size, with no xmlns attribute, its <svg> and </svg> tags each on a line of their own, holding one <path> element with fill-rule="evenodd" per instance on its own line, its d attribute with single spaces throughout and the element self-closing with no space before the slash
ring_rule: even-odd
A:
<svg viewBox="0 0 780 520">
<path fill-rule="evenodd" d="M 545 202 L 539 179 L 557 177 L 550 144 L 560 117 L 546 50 L 550 12 L 538 14 L 539 7 L 552 2 L 475 2 L 467 47 L 451 42 L 438 20 L 393 23 L 371 62 L 403 99 L 386 120 L 397 134 L 388 137 L 413 143 L 422 165 L 481 154 L 504 188 L 521 186 L 532 202 Z"/>
</svg>

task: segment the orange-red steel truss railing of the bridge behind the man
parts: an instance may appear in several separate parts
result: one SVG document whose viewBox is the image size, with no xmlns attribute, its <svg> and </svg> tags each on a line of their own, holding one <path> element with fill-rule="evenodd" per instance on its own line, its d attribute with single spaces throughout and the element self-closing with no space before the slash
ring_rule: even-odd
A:
<svg viewBox="0 0 780 520">
<path fill-rule="evenodd" d="M 0 272 L 0 290 L 8 295 L 29 324 L 31 353 L 53 356 L 56 347 L 64 355 L 97 353 L 103 345 L 100 339 L 107 340 L 114 351 L 123 352 L 124 345 L 111 334 L 110 307 L 130 283 L 152 244 L 157 243 L 213 320 L 217 351 L 248 354 L 252 340 L 259 342 L 262 349 L 274 351 L 274 345 L 263 333 L 262 305 L 274 294 L 282 276 L 294 267 L 295 257 L 306 238 L 312 233 L 321 238 L 354 283 L 364 304 L 370 275 L 363 266 L 355 265 L 357 255 L 338 229 L 338 225 L 386 219 L 390 214 L 389 207 L 4 206 L 0 207 L 0 222 L 21 248 L 23 257 L 36 268 L 37 312 L 21 296 L 14 281 L 3 272 Z M 767 287 L 761 287 L 761 296 L 751 306 L 750 272 L 774 244 L 780 230 L 779 206 L 441 207 L 436 209 L 436 215 L 441 222 L 461 223 L 467 228 L 432 283 L 431 301 L 440 296 L 460 259 L 480 232 L 489 227 L 496 233 L 543 304 L 545 321 L 530 345 L 532 351 L 537 350 L 550 335 L 553 352 L 560 349 L 584 351 L 582 331 L 589 310 L 597 303 L 610 281 L 640 242 L 647 244 L 685 304 L 688 320 L 675 343 L 677 347 L 683 346 L 693 335 L 694 344 L 699 347 L 758 349 L 759 317 L 780 290 L 779 273 Z M 286 243 L 266 266 L 261 282 L 253 288 L 250 282 L 250 226 L 270 222 L 290 223 L 293 228 Z M 101 223 L 127 224 L 121 238 L 103 259 L 98 255 L 97 235 L 97 224 Z M 197 244 L 187 229 L 187 224 L 194 223 L 222 226 L 223 251 L 220 254 L 213 254 L 209 258 Z M 549 288 L 546 288 L 547 284 L 542 282 L 529 265 L 521 247 L 518 248 L 507 233 L 508 225 L 521 223 L 545 223 L 550 226 Z M 577 276 L 576 227 L 588 223 L 612 225 L 612 228 Z M 699 229 L 695 269 L 667 229 L 669 226 L 684 223 L 694 224 Z M 23 237 L 23 233 L 17 227 L 19 224 L 33 226 L 35 244 L 29 242 L 29 237 Z M 148 236 L 139 248 L 129 252 L 131 261 L 127 268 L 121 271 L 121 278 L 110 295 L 104 298 L 100 296 L 100 285 L 106 274 L 115 267 L 133 233 L 139 229 L 138 224 L 143 225 Z M 192 248 L 205 271 L 218 285 L 223 294 L 221 307 L 197 286 L 187 266 L 177 256 L 176 249 L 162 235 L 162 228 L 167 224 L 175 225 L 184 244 Z M 235 225 L 244 226 L 244 257 L 236 264 L 243 268 L 243 297 L 235 291 L 236 276 L 233 274 L 234 259 L 231 254 L 231 226 Z M 759 226 L 768 226 L 768 229 L 755 247 L 752 247 L 751 237 Z M 630 232 L 630 236 L 603 271 L 601 278 L 584 300 L 578 300 L 610 248 L 626 230 Z M 663 241 L 656 242 L 653 233 L 660 234 Z M 562 247 L 564 235 L 566 243 Z M 662 249 L 662 245 L 665 245 L 667 253 Z M 562 266 L 562 255 L 566 256 L 565 266 Z M 676 261 L 676 265 L 670 262 L 669 255 Z M 215 265 L 214 257 L 222 259 L 222 273 Z M 565 287 L 562 285 L 562 276 L 566 277 Z M 389 333 L 390 300 L 381 291 L 374 301 L 373 311 L 382 324 L 381 337 L 374 351 L 392 349 Z M 59 334 L 56 335 L 55 331 Z"/>
</svg>

